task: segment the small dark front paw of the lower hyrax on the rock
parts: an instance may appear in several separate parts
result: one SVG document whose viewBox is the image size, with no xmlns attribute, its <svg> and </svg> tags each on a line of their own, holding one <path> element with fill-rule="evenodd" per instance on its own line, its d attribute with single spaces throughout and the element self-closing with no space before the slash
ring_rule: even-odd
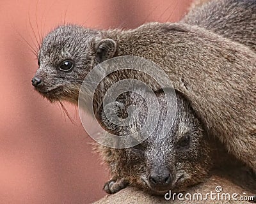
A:
<svg viewBox="0 0 256 204">
<path fill-rule="evenodd" d="M 128 182 L 125 179 L 111 179 L 104 185 L 103 189 L 106 193 L 113 194 L 128 186 Z"/>
</svg>

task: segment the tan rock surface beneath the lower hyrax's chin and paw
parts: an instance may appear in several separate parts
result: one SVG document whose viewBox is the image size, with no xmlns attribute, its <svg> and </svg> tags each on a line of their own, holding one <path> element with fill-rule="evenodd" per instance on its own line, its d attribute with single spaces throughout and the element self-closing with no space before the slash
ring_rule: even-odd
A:
<svg viewBox="0 0 256 204">
<path fill-rule="evenodd" d="M 222 191 L 220 193 L 216 192 L 217 187 L 221 187 Z M 216 193 L 216 199 L 211 199 L 211 196 L 207 196 L 207 200 L 186 200 L 185 194 L 189 193 L 191 194 L 193 198 L 193 194 L 195 193 L 201 193 L 203 198 L 205 198 L 205 195 L 207 193 Z M 128 203 L 148 203 L 148 204 L 156 204 L 156 203 L 175 203 L 175 204 L 183 204 L 183 203 L 249 203 L 248 201 L 241 200 L 241 197 L 245 198 L 245 196 L 253 196 L 255 195 L 250 191 L 246 191 L 243 188 L 232 184 L 227 179 L 218 177 L 218 176 L 212 176 L 207 181 L 205 181 L 202 184 L 199 184 L 198 186 L 191 187 L 186 193 L 183 194 L 182 198 L 184 200 L 177 199 L 177 196 L 175 196 L 175 200 L 165 200 L 164 196 L 152 196 L 147 193 L 143 193 L 142 191 L 139 191 L 138 189 L 134 189 L 133 187 L 127 187 L 123 189 L 122 191 L 119 191 L 116 194 L 112 194 L 109 196 L 106 196 L 105 198 L 102 198 L 101 200 L 95 202 L 95 204 L 110 204 L 110 203 L 122 203 L 122 204 L 128 204 Z M 229 194 L 230 200 L 225 200 L 225 195 L 223 194 Z M 220 195 L 220 199 L 218 200 L 218 194 Z M 232 195 L 237 194 L 236 198 L 237 200 L 232 199 Z M 221 195 L 223 200 L 221 200 Z M 196 198 L 196 197 L 195 197 Z M 214 195 L 212 195 L 212 198 L 214 198 Z M 248 197 L 247 197 L 248 199 Z"/>
</svg>

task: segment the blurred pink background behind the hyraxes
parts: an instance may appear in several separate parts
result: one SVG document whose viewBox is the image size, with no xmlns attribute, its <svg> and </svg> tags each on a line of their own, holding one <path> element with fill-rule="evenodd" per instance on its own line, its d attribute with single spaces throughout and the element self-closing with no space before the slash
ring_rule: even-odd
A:
<svg viewBox="0 0 256 204">
<path fill-rule="evenodd" d="M 102 186 L 109 179 L 107 168 L 92 153 L 93 140 L 81 126 L 77 109 L 65 103 L 74 125 L 58 105 L 33 90 L 37 60 L 22 38 L 37 49 L 38 35 L 64 20 L 98 29 L 173 22 L 190 3 L 1 0 L 0 203 L 92 203 L 106 195 Z"/>
</svg>

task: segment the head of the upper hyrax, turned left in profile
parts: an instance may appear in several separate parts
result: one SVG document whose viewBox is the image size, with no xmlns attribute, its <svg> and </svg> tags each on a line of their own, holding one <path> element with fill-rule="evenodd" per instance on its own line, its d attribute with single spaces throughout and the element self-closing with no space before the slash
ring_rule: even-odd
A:
<svg viewBox="0 0 256 204">
<path fill-rule="evenodd" d="M 113 57 L 115 50 L 115 41 L 104 38 L 100 31 L 60 26 L 42 42 L 32 84 L 50 101 L 77 103 L 86 75 L 97 63 Z"/>
</svg>

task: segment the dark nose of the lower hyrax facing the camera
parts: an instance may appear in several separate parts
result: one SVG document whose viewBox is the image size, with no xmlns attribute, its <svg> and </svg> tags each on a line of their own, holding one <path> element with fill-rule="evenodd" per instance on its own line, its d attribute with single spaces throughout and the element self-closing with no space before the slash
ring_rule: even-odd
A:
<svg viewBox="0 0 256 204">
<path fill-rule="evenodd" d="M 148 181 L 152 187 L 169 186 L 172 182 L 171 173 L 167 168 L 159 168 L 151 171 Z"/>
</svg>

